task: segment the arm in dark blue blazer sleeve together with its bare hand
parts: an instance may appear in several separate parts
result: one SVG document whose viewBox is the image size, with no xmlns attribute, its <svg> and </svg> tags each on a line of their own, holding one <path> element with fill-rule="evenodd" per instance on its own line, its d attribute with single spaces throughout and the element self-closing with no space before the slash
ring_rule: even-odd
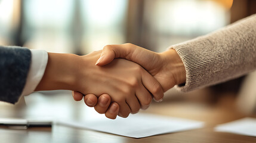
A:
<svg viewBox="0 0 256 143">
<path fill-rule="evenodd" d="M 112 108 L 109 108 L 108 111 L 111 114 L 116 114 L 119 111 L 119 115 L 122 117 L 127 117 L 130 112 L 136 113 L 140 106 L 147 107 L 152 99 L 150 92 L 156 98 L 162 98 L 163 92 L 159 83 L 135 63 L 115 60 L 109 66 L 95 66 L 94 63 L 100 57 L 100 53 L 101 51 L 85 56 L 48 53 L 48 63 L 45 62 L 47 67 L 45 72 L 42 72 L 44 76 L 38 85 L 35 84 L 35 86 L 37 85 L 35 91 L 67 89 L 88 95 L 91 93 L 98 96 L 102 95 L 99 98 L 100 101 L 104 101 L 104 96 L 106 97 L 105 100 L 109 99 L 107 94 L 111 94 L 112 101 L 118 103 L 113 103 L 110 106 Z M 26 91 L 23 88 L 27 77 L 29 77 L 27 73 L 29 75 L 31 73 L 29 71 L 31 52 L 26 48 L 1 47 L 1 54 L 0 66 L 5 69 L 1 70 L 1 83 L 3 85 L 1 91 L 8 96 L 2 96 L 0 99 L 14 103 L 20 97 L 21 92 Z M 23 72 L 23 70 L 26 71 Z M 31 75 L 32 77 L 29 79 L 33 80 L 33 77 L 36 76 Z M 12 78 L 14 81 L 10 80 Z M 26 85 L 29 84 L 26 83 Z M 26 92 L 29 93 L 30 91 L 29 89 Z M 110 101 L 107 102 L 110 104 Z"/>
</svg>

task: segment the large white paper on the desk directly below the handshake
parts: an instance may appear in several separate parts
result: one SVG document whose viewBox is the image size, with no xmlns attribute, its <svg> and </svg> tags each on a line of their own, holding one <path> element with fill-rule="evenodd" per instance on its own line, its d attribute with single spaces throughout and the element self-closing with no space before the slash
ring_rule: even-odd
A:
<svg viewBox="0 0 256 143">
<path fill-rule="evenodd" d="M 113 133 L 115 135 L 132 138 L 144 138 L 163 133 L 180 132 L 203 127 L 203 122 L 195 120 L 141 113 L 131 114 L 127 118 L 118 117 L 115 120 L 104 118 L 87 122 L 58 121 L 58 124 Z"/>
</svg>

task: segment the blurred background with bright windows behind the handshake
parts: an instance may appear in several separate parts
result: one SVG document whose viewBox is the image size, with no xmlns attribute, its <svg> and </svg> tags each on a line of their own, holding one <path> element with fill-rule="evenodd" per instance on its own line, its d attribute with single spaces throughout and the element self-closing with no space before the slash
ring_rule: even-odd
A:
<svg viewBox="0 0 256 143">
<path fill-rule="evenodd" d="M 175 43 L 205 35 L 254 13 L 254 0 L 0 0 L 0 45 L 84 55 L 104 45 L 129 42 L 163 52 Z M 255 112 L 256 93 L 253 87 L 242 83 L 252 85 L 253 81 L 240 77 L 186 94 L 171 90 L 161 105 L 179 103 L 177 107 L 184 110 L 184 117 L 202 111 L 190 112 L 190 104 L 196 109 L 221 105 L 234 111 L 239 107 L 243 113 L 251 114 Z M 39 103 L 51 93 L 56 92 L 39 92 L 38 98 L 28 96 L 26 100 Z M 71 96 L 68 99 L 72 100 Z"/>
</svg>

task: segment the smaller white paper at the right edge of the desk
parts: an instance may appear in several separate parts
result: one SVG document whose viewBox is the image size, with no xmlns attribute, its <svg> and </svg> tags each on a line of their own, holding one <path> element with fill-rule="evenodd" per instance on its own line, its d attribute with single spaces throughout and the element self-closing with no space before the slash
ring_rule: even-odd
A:
<svg viewBox="0 0 256 143">
<path fill-rule="evenodd" d="M 235 120 L 233 122 L 224 123 L 218 125 L 215 128 L 217 132 L 230 132 L 237 133 L 240 135 L 256 136 L 256 119 L 254 118 L 243 118 Z"/>
</svg>

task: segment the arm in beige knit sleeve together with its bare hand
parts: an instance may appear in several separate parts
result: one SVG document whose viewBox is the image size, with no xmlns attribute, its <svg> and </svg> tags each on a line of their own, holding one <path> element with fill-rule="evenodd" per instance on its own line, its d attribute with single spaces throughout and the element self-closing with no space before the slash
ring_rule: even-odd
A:
<svg viewBox="0 0 256 143">
<path fill-rule="evenodd" d="M 181 91 L 192 91 L 256 69 L 255 23 L 256 14 L 217 32 L 171 46 L 172 49 L 160 54 L 131 44 L 108 45 L 104 47 L 97 65 L 108 64 L 113 58 L 125 58 L 140 64 L 153 76 L 164 76 L 162 71 L 166 72 L 166 79 L 156 77 L 164 91 L 171 85 L 179 85 L 177 88 Z M 178 57 L 174 56 L 174 49 Z M 149 61 L 152 62 L 149 64 Z M 181 63 L 186 72 L 178 68 L 182 67 L 178 66 Z M 172 80 L 174 84 L 169 83 Z M 180 84 L 182 82 L 185 84 Z"/>
</svg>

